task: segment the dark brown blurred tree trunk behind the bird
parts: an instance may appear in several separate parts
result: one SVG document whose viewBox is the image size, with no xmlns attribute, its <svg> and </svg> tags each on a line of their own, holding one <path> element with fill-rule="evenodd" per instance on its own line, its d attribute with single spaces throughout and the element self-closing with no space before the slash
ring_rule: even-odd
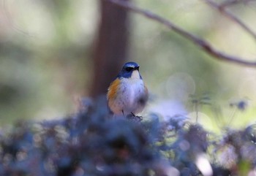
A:
<svg viewBox="0 0 256 176">
<path fill-rule="evenodd" d="M 127 10 L 102 0 L 99 0 L 99 6 L 101 16 L 93 53 L 94 75 L 91 85 L 93 98 L 107 93 L 110 82 L 127 61 L 129 47 Z"/>
</svg>

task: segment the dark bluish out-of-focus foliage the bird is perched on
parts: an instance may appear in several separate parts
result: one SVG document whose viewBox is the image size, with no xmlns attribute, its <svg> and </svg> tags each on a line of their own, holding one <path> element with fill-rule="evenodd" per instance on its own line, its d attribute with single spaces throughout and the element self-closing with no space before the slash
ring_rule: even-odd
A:
<svg viewBox="0 0 256 176">
<path fill-rule="evenodd" d="M 217 135 L 185 116 L 113 119 L 103 104 L 2 130 L 0 175 L 255 175 L 255 125 Z"/>
</svg>

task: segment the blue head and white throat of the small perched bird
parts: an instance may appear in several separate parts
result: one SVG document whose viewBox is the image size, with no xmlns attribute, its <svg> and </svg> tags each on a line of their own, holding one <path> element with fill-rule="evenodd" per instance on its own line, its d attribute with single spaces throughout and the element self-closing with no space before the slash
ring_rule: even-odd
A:
<svg viewBox="0 0 256 176">
<path fill-rule="evenodd" d="M 124 64 L 123 68 L 121 69 L 121 72 L 118 74 L 118 78 L 125 77 L 125 78 L 139 78 L 142 79 L 139 72 L 139 64 L 135 62 L 127 62 Z"/>
</svg>

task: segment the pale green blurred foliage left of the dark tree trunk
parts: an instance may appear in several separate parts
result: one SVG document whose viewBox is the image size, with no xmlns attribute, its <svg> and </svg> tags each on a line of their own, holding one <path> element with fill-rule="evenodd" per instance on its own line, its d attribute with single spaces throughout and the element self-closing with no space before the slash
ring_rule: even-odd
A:
<svg viewBox="0 0 256 176">
<path fill-rule="evenodd" d="M 89 47 L 96 27 L 89 19 L 91 9 L 78 8 L 94 3 L 78 3 L 1 3 L 1 123 L 61 117 L 75 110 L 76 96 L 89 86 Z"/>
</svg>

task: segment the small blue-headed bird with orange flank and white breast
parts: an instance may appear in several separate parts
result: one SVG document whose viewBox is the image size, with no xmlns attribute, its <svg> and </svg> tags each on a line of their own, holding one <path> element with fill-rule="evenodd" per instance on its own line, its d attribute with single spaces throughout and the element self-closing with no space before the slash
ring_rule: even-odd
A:
<svg viewBox="0 0 256 176">
<path fill-rule="evenodd" d="M 108 107 L 116 116 L 132 115 L 142 112 L 148 101 L 148 88 L 139 72 L 140 66 L 127 62 L 116 79 L 110 83 L 107 93 Z"/>
</svg>

